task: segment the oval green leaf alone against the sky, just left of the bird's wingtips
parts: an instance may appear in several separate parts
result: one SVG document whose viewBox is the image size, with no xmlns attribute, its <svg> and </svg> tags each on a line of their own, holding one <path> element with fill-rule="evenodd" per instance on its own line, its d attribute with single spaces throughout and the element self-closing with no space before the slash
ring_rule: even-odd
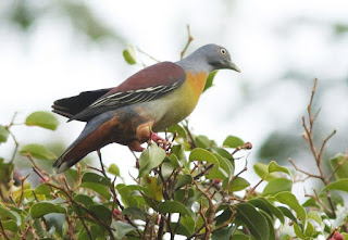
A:
<svg viewBox="0 0 348 240">
<path fill-rule="evenodd" d="M 38 126 L 50 130 L 55 130 L 59 122 L 50 112 L 38 111 L 28 115 L 25 119 L 27 126 Z"/>
</svg>

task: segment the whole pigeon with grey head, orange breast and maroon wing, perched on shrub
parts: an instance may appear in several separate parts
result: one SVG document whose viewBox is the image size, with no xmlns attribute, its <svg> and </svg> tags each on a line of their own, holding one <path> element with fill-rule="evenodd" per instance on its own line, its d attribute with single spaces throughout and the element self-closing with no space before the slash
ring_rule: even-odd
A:
<svg viewBox="0 0 348 240">
<path fill-rule="evenodd" d="M 77 139 L 53 163 L 60 174 L 109 143 L 142 151 L 156 134 L 185 119 L 196 108 L 208 75 L 240 72 L 226 48 L 209 43 L 177 62 L 160 62 L 137 72 L 115 88 L 83 91 L 53 102 L 52 112 L 67 122 L 86 122 Z"/>
</svg>

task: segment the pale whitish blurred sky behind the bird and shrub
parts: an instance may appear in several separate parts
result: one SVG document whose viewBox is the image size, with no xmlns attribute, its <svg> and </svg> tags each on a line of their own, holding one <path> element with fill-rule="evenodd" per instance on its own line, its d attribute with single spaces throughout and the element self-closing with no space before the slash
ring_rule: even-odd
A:
<svg viewBox="0 0 348 240">
<path fill-rule="evenodd" d="M 50 111 L 57 99 L 119 85 L 142 68 L 123 60 L 127 43 L 159 60 L 177 61 L 189 24 L 195 41 L 188 52 L 206 43 L 222 45 L 241 68 L 241 74 L 221 71 L 215 86 L 201 97 L 190 116 L 196 135 L 207 135 L 219 144 L 227 135 L 250 141 L 250 161 L 258 161 L 256 153 L 274 130 L 290 129 L 288 134 L 304 144 L 301 115 L 318 77 L 320 98 L 315 106 L 322 108 L 321 126 L 325 135 L 336 128 L 332 147 L 339 152 L 347 150 L 348 37 L 336 36 L 334 27 L 348 25 L 346 0 L 78 2 L 89 5 L 125 43 L 91 43 L 57 11 L 41 16 L 25 34 L 3 21 L 11 3 L 0 3 L 0 124 L 8 124 L 15 111 L 21 123 L 33 111 Z M 13 130 L 23 144 L 63 140 L 67 146 L 84 124 L 59 119 L 57 131 L 22 126 Z M 2 144 L 0 155 L 9 159 L 12 148 L 11 141 Z M 126 147 L 111 144 L 102 153 L 107 165 L 115 162 L 123 175 L 130 172 L 136 176 L 135 161 Z M 312 160 L 295 161 L 303 164 Z M 251 178 L 254 184 L 252 179 L 258 178 Z"/>
</svg>

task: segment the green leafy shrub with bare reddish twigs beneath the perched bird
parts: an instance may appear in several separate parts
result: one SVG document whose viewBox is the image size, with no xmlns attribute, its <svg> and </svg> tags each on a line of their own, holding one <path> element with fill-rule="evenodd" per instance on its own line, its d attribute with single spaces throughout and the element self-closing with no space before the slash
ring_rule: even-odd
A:
<svg viewBox="0 0 348 240">
<path fill-rule="evenodd" d="M 293 160 L 291 167 L 257 162 L 254 184 L 245 177 L 250 176 L 246 174 L 250 142 L 227 136 L 219 144 L 194 135 L 188 122 L 170 127 L 165 142 L 148 146 L 136 160 L 138 176 L 133 182 L 123 181 L 115 163 L 104 166 L 101 154 L 100 167 L 77 164 L 58 176 L 47 167 L 55 159 L 48 148 L 20 146 L 12 132 L 14 119 L 0 125 L 0 143 L 12 138 L 15 146 L 12 159 L 0 159 L 0 238 L 272 240 L 334 239 L 338 232 L 347 238 L 341 197 L 348 191 L 347 155 L 330 160 L 332 173 L 323 172 L 324 147 L 335 131 L 320 148 L 314 146 L 315 87 L 316 81 L 303 117 L 303 139 L 313 155 L 306 161 L 312 161 L 318 173 L 299 168 Z M 24 125 L 54 130 L 58 121 L 50 113 L 35 112 Z M 17 153 L 30 161 L 30 174 L 39 177 L 39 185 L 30 185 L 27 176 L 14 176 L 18 186 L 13 185 Z M 244 167 L 236 170 L 236 165 Z M 310 178 L 322 187 L 294 194 L 293 186 Z M 306 201 L 300 203 L 299 197 Z"/>
</svg>

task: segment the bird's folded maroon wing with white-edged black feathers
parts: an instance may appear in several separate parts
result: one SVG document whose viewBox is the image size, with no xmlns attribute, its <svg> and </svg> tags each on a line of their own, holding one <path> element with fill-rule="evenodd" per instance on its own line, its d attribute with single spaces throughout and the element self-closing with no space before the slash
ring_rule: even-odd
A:
<svg viewBox="0 0 348 240">
<path fill-rule="evenodd" d="M 117 87 L 94 101 L 70 121 L 89 121 L 91 117 L 122 106 L 148 102 L 173 91 L 186 79 L 185 71 L 172 62 L 146 67 Z"/>
</svg>

